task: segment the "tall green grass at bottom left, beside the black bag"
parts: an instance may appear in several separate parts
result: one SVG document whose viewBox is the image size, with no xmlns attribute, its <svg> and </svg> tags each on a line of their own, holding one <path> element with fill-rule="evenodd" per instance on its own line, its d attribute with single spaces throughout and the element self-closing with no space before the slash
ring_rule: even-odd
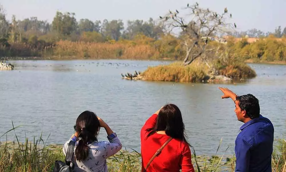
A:
<svg viewBox="0 0 286 172">
<path fill-rule="evenodd" d="M 8 132 L 15 132 L 15 128 L 17 127 L 13 126 Z M 62 157 L 59 149 L 50 149 L 45 145 L 42 135 L 31 141 L 25 138 L 24 143 L 19 142 L 16 133 L 15 136 L 17 142 L 0 142 L 0 172 L 51 171 L 54 161 Z"/>
</svg>

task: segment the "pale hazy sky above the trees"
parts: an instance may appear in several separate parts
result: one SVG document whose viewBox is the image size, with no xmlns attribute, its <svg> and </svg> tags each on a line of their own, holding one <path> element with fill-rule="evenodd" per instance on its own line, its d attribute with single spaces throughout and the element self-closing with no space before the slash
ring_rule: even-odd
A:
<svg viewBox="0 0 286 172">
<path fill-rule="evenodd" d="M 186 7 L 188 0 L 0 0 L 7 18 L 17 19 L 38 17 L 51 23 L 57 10 L 76 13 L 77 20 L 88 18 L 92 21 L 103 19 L 148 20 L 158 19 L 170 10 Z M 273 32 L 277 26 L 286 26 L 286 0 L 197 0 L 200 6 L 223 12 L 227 7 L 233 14 L 238 30 L 257 28 Z M 284 12 L 283 12 L 284 11 Z"/>
</svg>

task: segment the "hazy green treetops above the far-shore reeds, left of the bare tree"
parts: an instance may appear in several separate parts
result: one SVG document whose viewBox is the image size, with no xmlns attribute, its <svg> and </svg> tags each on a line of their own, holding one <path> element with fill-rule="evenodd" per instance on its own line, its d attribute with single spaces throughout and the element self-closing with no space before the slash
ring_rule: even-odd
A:
<svg viewBox="0 0 286 172">
<path fill-rule="evenodd" d="M 89 32 L 89 35 L 84 35 L 85 32 Z M 59 11 L 57 11 L 51 23 L 39 20 L 37 17 L 17 20 L 15 15 L 9 21 L 3 12 L 3 8 L 0 8 L 0 38 L 6 39 L 9 43 L 27 42 L 33 36 L 37 36 L 39 40 L 45 40 L 46 42 L 59 40 L 93 42 L 117 41 L 119 39 L 131 40 L 138 33 L 158 39 L 163 33 L 163 28 L 152 18 L 148 21 L 129 20 L 127 21 L 127 27 L 124 28 L 124 23 L 120 19 L 111 21 L 107 19 L 103 21 L 80 19 L 77 21 L 75 13 L 62 13 Z M 92 39 L 86 37 L 92 37 Z"/>
</svg>

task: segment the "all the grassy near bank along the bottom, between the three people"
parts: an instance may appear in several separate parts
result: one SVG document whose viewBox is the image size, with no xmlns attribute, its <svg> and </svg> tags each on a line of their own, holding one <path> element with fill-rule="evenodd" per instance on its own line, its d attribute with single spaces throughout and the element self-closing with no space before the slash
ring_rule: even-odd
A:
<svg viewBox="0 0 286 172">
<path fill-rule="evenodd" d="M 17 128 L 17 127 L 15 127 Z M 15 132 L 15 128 L 12 130 Z M 12 131 L 10 130 L 10 131 Z M 7 133 L 7 132 L 6 132 Z M 6 134 L 5 133 L 5 134 Z M 3 134 L 1 137 L 3 137 Z M 45 145 L 42 136 L 33 140 L 25 139 L 24 143 L 0 142 L 0 172 L 51 172 L 55 160 L 64 161 L 63 145 Z M 7 139 L 6 139 L 7 140 Z M 222 140 L 221 140 L 222 142 Z M 215 155 L 211 157 L 198 156 L 195 150 L 192 153 L 192 163 L 197 172 L 234 171 L 235 158 L 217 156 L 221 142 Z M 133 149 L 132 149 L 133 150 Z M 273 153 L 272 169 L 274 172 L 286 172 L 286 141 L 279 140 L 279 146 Z M 141 154 L 136 150 L 129 152 L 121 150 L 113 157 L 108 158 L 110 172 L 140 172 Z"/>
</svg>

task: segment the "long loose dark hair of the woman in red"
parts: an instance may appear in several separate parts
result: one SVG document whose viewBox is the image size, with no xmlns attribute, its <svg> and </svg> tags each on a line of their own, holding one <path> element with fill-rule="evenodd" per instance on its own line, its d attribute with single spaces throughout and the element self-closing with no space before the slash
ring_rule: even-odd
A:
<svg viewBox="0 0 286 172">
<path fill-rule="evenodd" d="M 182 140 L 191 146 L 186 139 L 181 111 L 174 104 L 164 105 L 158 113 L 156 125 L 153 128 L 148 128 L 147 131 L 150 132 L 147 137 L 157 131 L 165 131 L 168 136 Z"/>
</svg>

